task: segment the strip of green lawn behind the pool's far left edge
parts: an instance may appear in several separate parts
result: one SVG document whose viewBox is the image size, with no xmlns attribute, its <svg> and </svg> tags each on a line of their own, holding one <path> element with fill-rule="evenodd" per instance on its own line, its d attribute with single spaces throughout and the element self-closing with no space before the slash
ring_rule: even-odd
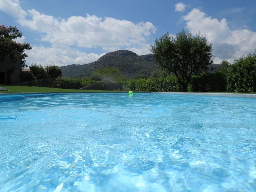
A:
<svg viewBox="0 0 256 192">
<path fill-rule="evenodd" d="M 80 90 L 80 89 L 59 89 L 51 87 L 35 87 L 35 86 L 12 86 L 12 85 L 0 85 L 13 93 L 27 93 L 27 92 L 127 92 L 127 91 L 101 91 L 101 90 Z M 3 91 L 4 93 L 9 93 Z"/>
</svg>

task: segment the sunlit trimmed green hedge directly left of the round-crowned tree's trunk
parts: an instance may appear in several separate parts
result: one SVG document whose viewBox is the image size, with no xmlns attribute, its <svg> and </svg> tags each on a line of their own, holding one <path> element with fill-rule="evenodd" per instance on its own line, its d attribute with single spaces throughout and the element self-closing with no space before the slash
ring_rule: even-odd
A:
<svg viewBox="0 0 256 192">
<path fill-rule="evenodd" d="M 180 91 L 180 85 L 176 77 L 169 76 L 166 78 L 148 78 L 132 79 L 125 81 L 124 90 L 142 91 L 142 92 L 176 92 Z"/>
</svg>

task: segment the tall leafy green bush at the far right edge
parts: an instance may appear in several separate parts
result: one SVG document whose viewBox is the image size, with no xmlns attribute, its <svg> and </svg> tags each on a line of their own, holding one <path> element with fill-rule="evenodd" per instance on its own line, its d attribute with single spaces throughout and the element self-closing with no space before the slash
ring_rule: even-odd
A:
<svg viewBox="0 0 256 192">
<path fill-rule="evenodd" d="M 256 52 L 234 61 L 227 73 L 228 92 L 256 92 Z"/>
</svg>

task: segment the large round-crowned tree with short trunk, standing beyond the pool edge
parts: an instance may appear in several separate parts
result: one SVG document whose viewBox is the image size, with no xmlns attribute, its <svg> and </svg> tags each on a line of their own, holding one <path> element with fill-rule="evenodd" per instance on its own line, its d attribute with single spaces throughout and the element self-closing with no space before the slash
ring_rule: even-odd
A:
<svg viewBox="0 0 256 192">
<path fill-rule="evenodd" d="M 193 75 L 206 71 L 212 60 L 212 44 L 200 33 L 192 36 L 182 29 L 176 37 L 167 32 L 150 46 L 154 59 L 162 68 L 177 77 L 183 92 L 188 92 L 188 84 Z"/>
</svg>

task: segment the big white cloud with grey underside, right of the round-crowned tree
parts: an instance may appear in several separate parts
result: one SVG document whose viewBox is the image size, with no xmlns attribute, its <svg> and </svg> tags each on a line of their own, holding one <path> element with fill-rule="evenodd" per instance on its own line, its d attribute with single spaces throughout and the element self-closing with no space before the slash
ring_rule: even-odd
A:
<svg viewBox="0 0 256 192">
<path fill-rule="evenodd" d="M 183 17 L 187 21 L 187 28 L 196 34 L 206 34 L 208 41 L 213 43 L 215 63 L 227 59 L 233 62 L 234 59 L 243 54 L 252 53 L 256 48 L 256 33 L 247 29 L 231 30 L 226 19 L 217 20 L 208 17 L 199 9 L 193 9 Z"/>
</svg>

